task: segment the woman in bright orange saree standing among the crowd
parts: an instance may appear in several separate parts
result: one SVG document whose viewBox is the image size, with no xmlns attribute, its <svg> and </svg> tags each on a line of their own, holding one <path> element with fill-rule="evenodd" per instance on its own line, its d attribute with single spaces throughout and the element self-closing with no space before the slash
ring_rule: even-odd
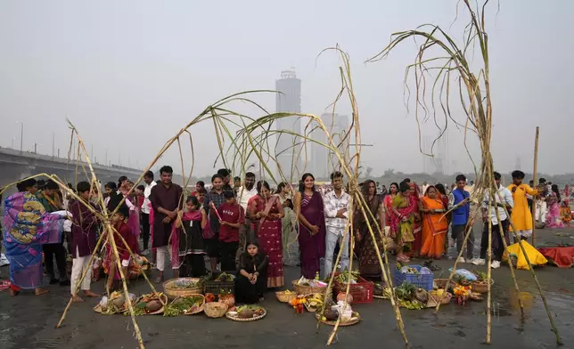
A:
<svg viewBox="0 0 574 349">
<path fill-rule="evenodd" d="M 445 252 L 448 221 L 437 188 L 431 185 L 422 197 L 421 256 L 440 259 Z"/>
</svg>

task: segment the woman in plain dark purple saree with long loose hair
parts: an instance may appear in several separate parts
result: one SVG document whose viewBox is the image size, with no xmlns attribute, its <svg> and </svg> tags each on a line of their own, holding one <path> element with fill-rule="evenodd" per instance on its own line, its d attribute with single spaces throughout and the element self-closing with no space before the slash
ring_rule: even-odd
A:
<svg viewBox="0 0 574 349">
<path fill-rule="evenodd" d="M 325 252 L 323 198 L 315 191 L 315 177 L 305 174 L 295 194 L 295 214 L 299 218 L 301 274 L 314 279 Z"/>
</svg>

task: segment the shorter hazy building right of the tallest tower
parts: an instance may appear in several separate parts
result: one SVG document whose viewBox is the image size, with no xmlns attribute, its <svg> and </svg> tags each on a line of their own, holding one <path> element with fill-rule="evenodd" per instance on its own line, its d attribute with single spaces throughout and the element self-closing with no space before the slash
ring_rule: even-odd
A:
<svg viewBox="0 0 574 349">
<path fill-rule="evenodd" d="M 331 134 L 334 144 L 339 145 L 339 152 L 344 156 L 344 151 L 348 148 L 348 138 L 342 142 L 345 134 L 348 132 L 348 116 L 325 113 L 321 116 L 325 127 L 329 134 Z M 316 142 L 329 144 L 327 135 L 323 130 L 316 130 L 312 134 Z M 333 171 L 340 171 L 340 161 L 334 152 L 328 150 L 321 144 L 315 142 L 310 144 L 311 148 L 311 164 L 307 169 L 312 171 L 318 178 L 328 178 Z"/>
</svg>

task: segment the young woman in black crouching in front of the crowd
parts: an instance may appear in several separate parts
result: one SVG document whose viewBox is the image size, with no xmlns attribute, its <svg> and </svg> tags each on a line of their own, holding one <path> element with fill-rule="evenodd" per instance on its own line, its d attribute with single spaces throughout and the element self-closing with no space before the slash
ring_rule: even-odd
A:
<svg viewBox="0 0 574 349">
<path fill-rule="evenodd" d="M 240 257 L 238 270 L 235 279 L 235 300 L 237 303 L 258 303 L 267 287 L 267 257 L 259 252 L 256 241 L 247 243 L 246 252 Z"/>
</svg>

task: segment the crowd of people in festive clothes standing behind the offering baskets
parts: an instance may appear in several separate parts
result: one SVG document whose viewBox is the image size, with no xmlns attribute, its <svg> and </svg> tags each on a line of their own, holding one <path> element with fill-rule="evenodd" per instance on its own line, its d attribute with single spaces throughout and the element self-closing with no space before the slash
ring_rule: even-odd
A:
<svg viewBox="0 0 574 349">
<path fill-rule="evenodd" d="M 11 293 L 15 296 L 21 288 L 34 288 L 37 295 L 44 294 L 45 272 L 50 283 L 70 285 L 73 300 L 79 302 L 83 299 L 76 288 L 86 272 L 79 286 L 81 296 L 96 296 L 90 290 L 93 265 L 88 262 L 106 227 L 116 237 L 106 239 L 102 253 L 109 275 L 107 290 L 121 274 L 130 272 L 134 256 L 151 256 L 158 283 L 164 280 L 166 268 L 172 269 L 174 277 L 233 271 L 238 301 L 252 303 L 266 288 L 283 287 L 284 266 L 299 265 L 307 279 L 326 278 L 334 270 L 348 269 L 349 259 L 355 256 L 361 276 L 381 280 L 377 249 L 386 248 L 403 264 L 414 257 L 440 259 L 449 247 L 448 231 L 456 250 L 465 250 L 459 262 L 477 265 L 485 264 L 491 231 L 492 267 L 497 268 L 504 253 L 500 230 L 506 244 L 510 244 L 512 230 L 528 238 L 533 228 L 531 205 L 536 205 L 537 222 L 549 227 L 563 227 L 571 214 L 568 199 L 561 199 L 555 184 L 540 179 L 533 188 L 522 183 L 521 171 L 514 171 L 512 184 L 504 187 L 501 175 L 493 175 L 495 198 L 487 192 L 484 198 L 471 199 L 472 183 L 467 184 L 464 175 L 457 175 L 453 186 L 426 182 L 419 186 L 406 178 L 391 183 L 388 191 L 366 180 L 359 185 L 360 194 L 351 198 L 340 172 L 334 172 L 331 182 L 324 185 L 317 185 L 307 173 L 298 187 L 279 183 L 273 190 L 250 172 L 232 182 L 231 172 L 223 168 L 211 177 L 210 186 L 200 181 L 194 191 L 187 192 L 172 182 L 173 169 L 163 166 L 158 181 L 148 171 L 144 184 L 136 188 L 125 176 L 119 183 L 105 184 L 103 204 L 114 213 L 109 222 L 102 222 L 102 215 L 97 214 L 102 211 L 100 189 L 90 183 L 78 183 L 75 195 L 70 195 L 52 181 L 28 179 L 18 184 L 17 194 L 5 200 L 4 248 L 11 262 Z M 570 197 L 568 188 L 565 197 Z M 471 215 L 471 205 L 477 204 L 483 221 L 480 256 L 474 256 Z M 337 251 L 340 263 L 333 265 Z M 71 282 L 66 270 L 69 254 Z"/>
</svg>

